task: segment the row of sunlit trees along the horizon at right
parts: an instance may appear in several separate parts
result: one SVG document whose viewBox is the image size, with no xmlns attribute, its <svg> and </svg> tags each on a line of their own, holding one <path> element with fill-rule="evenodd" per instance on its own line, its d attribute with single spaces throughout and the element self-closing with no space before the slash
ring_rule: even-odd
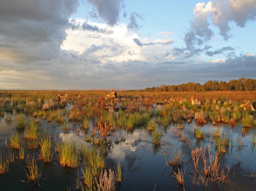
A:
<svg viewBox="0 0 256 191">
<path fill-rule="evenodd" d="M 203 85 L 196 82 L 182 83 L 180 85 L 165 85 L 145 88 L 139 91 L 146 92 L 200 92 L 200 91 L 256 91 L 256 79 L 240 78 L 229 82 L 209 80 Z"/>
</svg>

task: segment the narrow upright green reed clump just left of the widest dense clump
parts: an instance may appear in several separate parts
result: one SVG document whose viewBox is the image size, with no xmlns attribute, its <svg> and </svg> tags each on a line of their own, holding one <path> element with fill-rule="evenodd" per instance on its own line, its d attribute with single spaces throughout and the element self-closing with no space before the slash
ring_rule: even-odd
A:
<svg viewBox="0 0 256 191">
<path fill-rule="evenodd" d="M 44 162 L 52 162 L 52 139 L 49 138 L 42 138 L 40 141 L 40 155 L 39 159 Z"/>
</svg>

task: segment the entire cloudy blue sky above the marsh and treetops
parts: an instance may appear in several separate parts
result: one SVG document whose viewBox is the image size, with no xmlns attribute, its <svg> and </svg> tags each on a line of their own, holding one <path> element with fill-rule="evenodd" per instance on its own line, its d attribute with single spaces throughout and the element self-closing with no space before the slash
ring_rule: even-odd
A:
<svg viewBox="0 0 256 191">
<path fill-rule="evenodd" d="M 0 89 L 256 76 L 256 0 L 0 0 Z"/>
</svg>

